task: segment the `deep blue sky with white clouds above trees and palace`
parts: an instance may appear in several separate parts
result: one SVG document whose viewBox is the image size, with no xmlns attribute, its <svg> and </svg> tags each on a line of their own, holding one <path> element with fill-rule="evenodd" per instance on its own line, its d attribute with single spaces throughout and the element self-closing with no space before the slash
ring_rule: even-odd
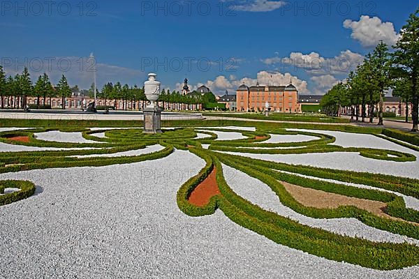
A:
<svg viewBox="0 0 419 279">
<path fill-rule="evenodd" d="M 324 94 L 383 40 L 394 45 L 415 1 L 1 1 L 0 64 L 88 89 L 287 85 Z M 94 53 L 96 63 L 89 59 Z"/>
</svg>

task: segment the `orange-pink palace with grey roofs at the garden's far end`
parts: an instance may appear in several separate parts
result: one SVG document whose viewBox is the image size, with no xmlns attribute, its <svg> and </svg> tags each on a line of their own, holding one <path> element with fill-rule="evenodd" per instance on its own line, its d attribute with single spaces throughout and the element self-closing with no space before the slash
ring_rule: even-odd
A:
<svg viewBox="0 0 419 279">
<path fill-rule="evenodd" d="M 298 91 L 289 84 L 288 86 L 256 86 L 241 85 L 237 89 L 237 110 L 242 112 L 262 112 L 265 103 L 269 103 L 273 112 L 300 112 L 298 105 Z"/>
</svg>

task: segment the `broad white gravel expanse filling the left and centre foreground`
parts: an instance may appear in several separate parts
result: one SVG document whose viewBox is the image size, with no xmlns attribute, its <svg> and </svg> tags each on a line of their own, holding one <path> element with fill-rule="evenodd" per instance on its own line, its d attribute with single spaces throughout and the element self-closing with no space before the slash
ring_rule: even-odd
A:
<svg viewBox="0 0 419 279">
<path fill-rule="evenodd" d="M 187 162 L 187 164 L 185 164 Z M 274 243 L 221 211 L 191 218 L 176 192 L 205 165 L 186 151 L 108 167 L 1 174 L 37 193 L 0 208 L 3 278 L 416 278 Z"/>
</svg>

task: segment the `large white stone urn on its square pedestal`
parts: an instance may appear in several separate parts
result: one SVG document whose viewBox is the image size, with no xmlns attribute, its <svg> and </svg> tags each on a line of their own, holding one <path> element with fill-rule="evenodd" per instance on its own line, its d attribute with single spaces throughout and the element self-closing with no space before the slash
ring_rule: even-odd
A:
<svg viewBox="0 0 419 279">
<path fill-rule="evenodd" d="M 158 106 L 156 100 L 160 96 L 160 82 L 156 80 L 156 74 L 149 73 L 149 79 L 144 82 L 145 96 L 150 101 L 144 109 L 144 133 L 161 133 L 161 112 L 163 109 Z"/>
</svg>

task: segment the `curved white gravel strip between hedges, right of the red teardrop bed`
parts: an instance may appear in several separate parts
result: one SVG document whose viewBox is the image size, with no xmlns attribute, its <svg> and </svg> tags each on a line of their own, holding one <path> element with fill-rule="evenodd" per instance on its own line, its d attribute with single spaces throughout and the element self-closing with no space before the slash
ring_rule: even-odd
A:
<svg viewBox="0 0 419 279">
<path fill-rule="evenodd" d="M 374 227 L 369 227 L 355 218 L 316 219 L 304 216 L 284 206 L 279 197 L 265 183 L 240 172 L 237 169 L 223 165 L 223 174 L 226 182 L 237 195 L 247 199 L 252 204 L 295 220 L 310 227 L 318 227 L 336 234 L 360 237 L 370 241 L 403 243 L 409 242 L 419 246 L 419 240 L 407 236 L 392 234 Z"/>
</svg>

